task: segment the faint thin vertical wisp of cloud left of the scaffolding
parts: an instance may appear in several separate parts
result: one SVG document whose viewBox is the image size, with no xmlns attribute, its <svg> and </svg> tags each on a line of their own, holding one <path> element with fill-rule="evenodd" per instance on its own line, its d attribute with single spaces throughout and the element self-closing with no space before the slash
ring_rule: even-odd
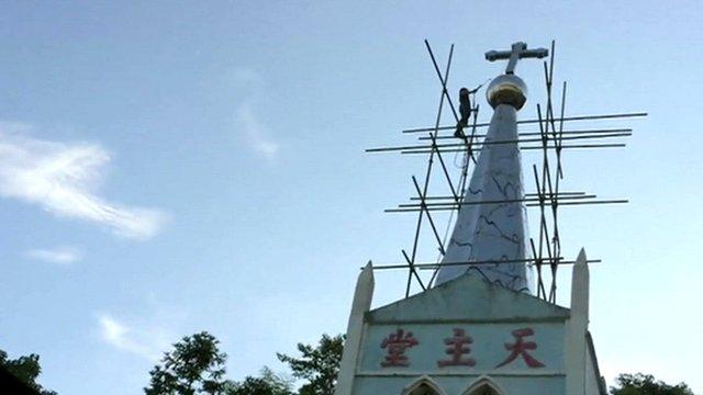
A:
<svg viewBox="0 0 703 395">
<path fill-rule="evenodd" d="M 269 128 L 257 116 L 254 106 L 265 89 L 264 78 L 248 68 L 235 68 L 227 77 L 246 97 L 234 112 L 237 134 L 254 153 L 269 160 L 275 159 L 280 151 L 280 144 L 271 138 Z"/>
</svg>

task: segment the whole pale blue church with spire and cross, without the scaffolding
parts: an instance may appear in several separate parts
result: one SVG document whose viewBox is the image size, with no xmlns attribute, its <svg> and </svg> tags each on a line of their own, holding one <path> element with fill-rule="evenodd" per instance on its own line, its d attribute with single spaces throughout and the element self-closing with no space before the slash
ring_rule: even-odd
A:
<svg viewBox="0 0 703 395">
<path fill-rule="evenodd" d="M 493 114 L 434 281 L 371 308 L 373 266 L 358 276 L 335 395 L 606 395 L 589 334 L 589 267 L 573 263 L 569 307 L 535 295 L 517 112 L 522 58 L 486 89 Z"/>
</svg>

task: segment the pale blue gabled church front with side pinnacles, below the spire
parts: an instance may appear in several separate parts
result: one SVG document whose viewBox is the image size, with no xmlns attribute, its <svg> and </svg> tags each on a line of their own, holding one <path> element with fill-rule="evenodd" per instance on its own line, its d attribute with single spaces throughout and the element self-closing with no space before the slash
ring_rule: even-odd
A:
<svg viewBox="0 0 703 395">
<path fill-rule="evenodd" d="M 605 395 L 581 251 L 565 308 L 470 272 L 370 309 L 359 275 L 336 395 Z"/>
</svg>

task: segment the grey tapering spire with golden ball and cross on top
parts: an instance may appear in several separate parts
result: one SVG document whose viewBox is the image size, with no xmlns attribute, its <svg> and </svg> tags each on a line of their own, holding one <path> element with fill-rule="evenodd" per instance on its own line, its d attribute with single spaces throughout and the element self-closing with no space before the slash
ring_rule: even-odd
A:
<svg viewBox="0 0 703 395">
<path fill-rule="evenodd" d="M 511 52 L 489 52 L 489 60 L 510 59 L 504 75 L 487 89 L 493 116 L 469 188 L 461 202 L 443 263 L 475 262 L 440 267 L 436 284 L 465 272 L 516 291 L 528 291 L 526 264 L 526 213 L 516 114 L 525 104 L 527 88 L 514 69 L 517 59 L 544 57 L 546 49 L 526 49 L 513 44 Z"/>
</svg>

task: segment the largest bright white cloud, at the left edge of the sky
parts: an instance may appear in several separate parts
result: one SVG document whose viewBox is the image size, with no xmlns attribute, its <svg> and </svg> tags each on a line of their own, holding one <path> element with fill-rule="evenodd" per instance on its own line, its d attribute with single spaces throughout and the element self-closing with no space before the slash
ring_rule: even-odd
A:
<svg viewBox="0 0 703 395">
<path fill-rule="evenodd" d="M 96 144 L 32 138 L 31 126 L 0 123 L 0 196 L 40 205 L 64 217 L 109 227 L 119 236 L 148 239 L 166 215 L 152 208 L 111 203 L 96 194 L 110 161 Z"/>
</svg>

